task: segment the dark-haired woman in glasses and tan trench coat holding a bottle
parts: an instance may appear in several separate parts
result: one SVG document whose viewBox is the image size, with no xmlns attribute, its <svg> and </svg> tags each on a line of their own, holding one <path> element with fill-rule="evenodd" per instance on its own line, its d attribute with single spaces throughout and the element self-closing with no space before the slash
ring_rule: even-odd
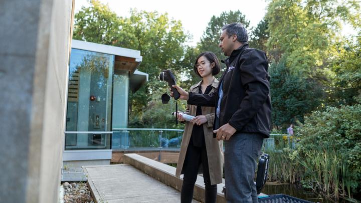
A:
<svg viewBox="0 0 361 203">
<path fill-rule="evenodd" d="M 209 94 L 218 87 L 214 77 L 221 67 L 216 55 L 212 52 L 201 53 L 196 60 L 194 70 L 202 81 L 193 85 L 190 92 Z M 191 202 L 198 171 L 203 169 L 206 186 L 206 203 L 216 202 L 217 184 L 222 182 L 223 153 L 222 142 L 213 138 L 214 107 L 188 105 L 186 112 L 196 116 L 191 122 L 186 122 L 179 160 L 175 175 L 184 174 L 180 201 Z M 178 114 L 178 120 L 184 121 Z"/>
</svg>

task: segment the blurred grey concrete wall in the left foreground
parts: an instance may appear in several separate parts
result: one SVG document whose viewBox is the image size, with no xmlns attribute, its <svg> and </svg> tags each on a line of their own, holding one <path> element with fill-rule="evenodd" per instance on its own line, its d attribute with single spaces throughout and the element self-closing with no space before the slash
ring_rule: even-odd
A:
<svg viewBox="0 0 361 203">
<path fill-rule="evenodd" d="M 0 2 L 2 202 L 58 202 L 73 5 Z"/>
</svg>

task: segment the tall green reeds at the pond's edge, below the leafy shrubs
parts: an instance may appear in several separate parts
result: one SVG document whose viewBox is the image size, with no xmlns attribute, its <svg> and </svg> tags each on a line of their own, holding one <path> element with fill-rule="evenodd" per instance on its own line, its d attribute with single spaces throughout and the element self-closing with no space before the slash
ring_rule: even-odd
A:
<svg viewBox="0 0 361 203">
<path fill-rule="evenodd" d="M 351 177 L 340 152 L 332 149 L 315 149 L 299 154 L 288 140 L 275 137 L 274 149 L 263 149 L 270 155 L 268 181 L 299 183 L 322 196 L 338 201 L 352 199 Z"/>
</svg>

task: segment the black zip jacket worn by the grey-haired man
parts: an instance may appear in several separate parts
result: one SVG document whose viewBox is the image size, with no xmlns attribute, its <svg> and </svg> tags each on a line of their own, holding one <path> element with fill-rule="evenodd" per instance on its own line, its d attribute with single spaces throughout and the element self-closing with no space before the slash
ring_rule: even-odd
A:
<svg viewBox="0 0 361 203">
<path fill-rule="evenodd" d="M 225 63 L 227 69 L 219 83 L 223 83 L 219 126 L 229 123 L 236 133 L 261 133 L 269 137 L 271 96 L 266 54 L 244 44 L 233 50 Z M 218 93 L 218 88 L 209 95 L 190 92 L 188 104 L 215 106 L 217 111 Z"/>
</svg>

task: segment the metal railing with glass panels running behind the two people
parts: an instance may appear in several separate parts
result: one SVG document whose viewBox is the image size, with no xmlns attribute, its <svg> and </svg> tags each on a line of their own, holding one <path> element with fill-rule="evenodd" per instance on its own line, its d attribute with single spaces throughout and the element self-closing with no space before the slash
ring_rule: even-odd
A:
<svg viewBox="0 0 361 203">
<path fill-rule="evenodd" d="M 66 131 L 65 150 L 179 150 L 183 129 L 113 128 L 112 131 Z M 288 134 L 270 134 L 264 147 L 279 150 L 294 147 L 295 139 Z"/>
</svg>

